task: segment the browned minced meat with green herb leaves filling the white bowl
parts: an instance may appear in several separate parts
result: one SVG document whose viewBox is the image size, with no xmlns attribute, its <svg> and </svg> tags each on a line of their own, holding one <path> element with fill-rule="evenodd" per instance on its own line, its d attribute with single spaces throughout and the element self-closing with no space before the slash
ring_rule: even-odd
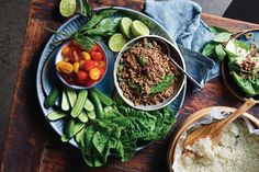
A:
<svg viewBox="0 0 259 172">
<path fill-rule="evenodd" d="M 135 107 L 170 102 L 181 89 L 179 83 L 183 82 L 182 73 L 170 57 L 170 51 L 178 51 L 157 36 L 139 37 L 131 43 L 119 55 L 114 73 L 124 100 L 130 100 Z"/>
</svg>

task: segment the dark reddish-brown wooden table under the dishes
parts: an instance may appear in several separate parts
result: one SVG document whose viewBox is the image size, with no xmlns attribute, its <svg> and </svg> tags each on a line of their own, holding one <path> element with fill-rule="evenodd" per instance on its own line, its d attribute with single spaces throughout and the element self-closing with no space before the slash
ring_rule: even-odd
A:
<svg viewBox="0 0 259 172">
<path fill-rule="evenodd" d="M 64 21 L 58 13 L 59 0 L 33 0 L 30 9 L 27 28 L 23 44 L 13 105 L 10 113 L 8 136 L 2 154 L 3 172 L 162 172 L 167 171 L 166 152 L 169 139 L 157 141 L 136 153 L 128 162 L 112 159 L 106 167 L 88 168 L 80 151 L 63 144 L 58 135 L 48 125 L 38 105 L 35 76 L 40 55 L 50 36 L 43 26 L 57 28 Z M 90 0 L 92 7 L 123 5 L 140 11 L 143 0 L 112 1 Z M 202 19 L 212 25 L 228 30 L 259 27 L 257 24 L 203 14 Z M 179 122 L 189 114 L 212 105 L 238 106 L 239 102 L 224 87 L 218 77 L 210 81 L 202 91 L 188 94 Z M 259 114 L 259 107 L 251 113 Z M 257 115 L 258 116 L 258 115 Z M 173 128 L 176 130 L 176 127 Z M 172 135 L 173 136 L 173 133 Z"/>
</svg>

